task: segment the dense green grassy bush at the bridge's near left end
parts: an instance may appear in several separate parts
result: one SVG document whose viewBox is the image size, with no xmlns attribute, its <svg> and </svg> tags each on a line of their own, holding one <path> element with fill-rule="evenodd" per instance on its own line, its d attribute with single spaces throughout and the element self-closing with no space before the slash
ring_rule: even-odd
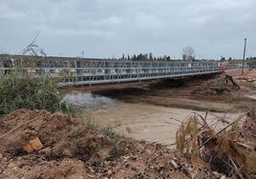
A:
<svg viewBox="0 0 256 179">
<path fill-rule="evenodd" d="M 57 88 L 57 81 L 48 75 L 40 78 L 33 78 L 30 75 L 20 76 L 16 73 L 1 76 L 0 116 L 14 109 L 69 111 Z"/>
</svg>

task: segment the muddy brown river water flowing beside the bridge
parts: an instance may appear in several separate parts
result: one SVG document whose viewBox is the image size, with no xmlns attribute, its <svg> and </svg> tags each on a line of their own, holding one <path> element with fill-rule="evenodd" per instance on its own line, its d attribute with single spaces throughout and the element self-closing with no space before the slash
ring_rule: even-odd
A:
<svg viewBox="0 0 256 179">
<path fill-rule="evenodd" d="M 192 112 L 205 115 L 205 111 L 124 103 L 92 93 L 67 94 L 65 99 L 81 109 L 80 116 L 84 120 L 91 120 L 100 127 L 113 127 L 120 135 L 139 141 L 161 143 L 167 147 L 175 143 L 175 133 L 181 124 L 179 121 L 186 119 Z M 214 116 L 218 116 L 232 121 L 237 119 L 238 115 L 209 112 L 207 119 L 214 123 Z"/>
</svg>

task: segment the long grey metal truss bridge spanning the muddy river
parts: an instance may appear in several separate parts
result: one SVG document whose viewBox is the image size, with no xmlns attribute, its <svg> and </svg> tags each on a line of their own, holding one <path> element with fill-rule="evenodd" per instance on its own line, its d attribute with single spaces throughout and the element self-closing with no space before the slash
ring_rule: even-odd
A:
<svg viewBox="0 0 256 179">
<path fill-rule="evenodd" d="M 215 61 L 132 61 L 67 57 L 40 58 L 28 67 L 26 62 L 30 61 L 29 58 L 32 56 L 28 56 L 27 59 L 25 57 L 16 55 L 12 58 L 15 65 L 25 66 L 23 70 L 35 76 L 49 74 L 53 77 L 62 77 L 60 86 L 175 78 L 221 71 L 220 65 Z M 11 69 L 5 67 L 6 59 L 0 56 L 0 73 Z"/>
</svg>

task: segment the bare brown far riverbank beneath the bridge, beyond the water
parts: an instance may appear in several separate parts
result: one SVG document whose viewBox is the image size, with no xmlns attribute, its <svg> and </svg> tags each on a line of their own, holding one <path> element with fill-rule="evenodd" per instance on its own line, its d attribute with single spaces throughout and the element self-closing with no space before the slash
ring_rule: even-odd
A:
<svg viewBox="0 0 256 179">
<path fill-rule="evenodd" d="M 225 75 L 233 75 L 240 89 L 233 87 Z M 239 112 L 255 109 L 255 100 L 247 96 L 256 94 L 256 70 L 226 70 L 217 75 L 193 76 L 183 79 L 166 79 L 127 84 L 106 84 L 78 87 L 73 90 L 92 92 L 129 103 L 146 103 L 156 106 Z"/>
</svg>

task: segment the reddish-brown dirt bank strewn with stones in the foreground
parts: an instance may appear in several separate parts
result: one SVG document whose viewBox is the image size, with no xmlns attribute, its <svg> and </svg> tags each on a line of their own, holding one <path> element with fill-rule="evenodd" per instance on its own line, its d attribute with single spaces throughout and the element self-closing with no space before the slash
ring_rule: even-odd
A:
<svg viewBox="0 0 256 179">
<path fill-rule="evenodd" d="M 0 178 L 214 178 L 161 146 L 106 135 L 61 112 L 19 109 L 0 118 Z M 33 142 L 39 142 L 35 148 Z M 28 151 L 24 146 L 31 145 Z"/>
</svg>

